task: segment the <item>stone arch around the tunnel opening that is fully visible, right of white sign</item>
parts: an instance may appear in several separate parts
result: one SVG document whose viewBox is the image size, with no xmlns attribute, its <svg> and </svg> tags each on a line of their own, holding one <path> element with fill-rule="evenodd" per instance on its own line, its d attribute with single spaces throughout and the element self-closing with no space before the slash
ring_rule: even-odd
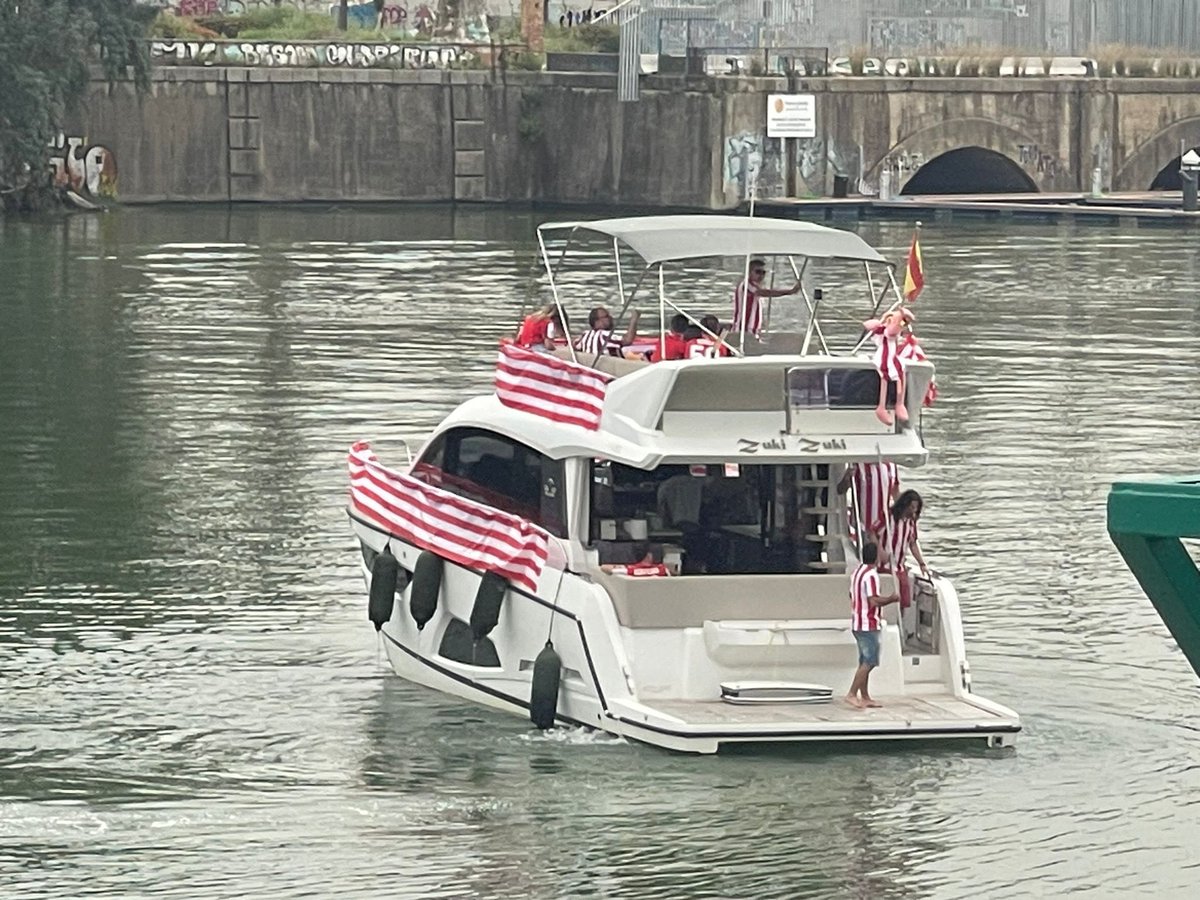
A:
<svg viewBox="0 0 1200 900">
<path fill-rule="evenodd" d="M 901 138 L 864 173 L 864 181 L 877 187 L 881 173 L 890 169 L 892 190 L 899 193 L 925 166 L 937 160 L 944 164 L 947 160 L 942 157 L 968 149 L 983 152 L 960 155 L 953 160 L 955 164 L 966 163 L 961 172 L 964 188 L 954 193 L 986 192 L 986 188 L 970 186 L 973 166 L 1008 169 L 1012 175 L 1008 184 L 1021 185 L 1015 188 L 992 187 L 992 191 L 1066 191 L 1074 187 L 1075 179 L 1067 170 L 1058 148 L 1042 148 L 1028 134 L 985 118 L 952 119 Z M 980 185 L 988 173 L 980 169 Z M 995 178 L 989 180 L 995 182 Z"/>
</svg>

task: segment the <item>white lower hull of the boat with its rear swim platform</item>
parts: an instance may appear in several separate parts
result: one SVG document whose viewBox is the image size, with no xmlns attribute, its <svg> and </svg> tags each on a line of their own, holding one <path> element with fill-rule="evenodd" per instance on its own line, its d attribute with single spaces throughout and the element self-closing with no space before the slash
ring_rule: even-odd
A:
<svg viewBox="0 0 1200 900">
<path fill-rule="evenodd" d="M 418 548 L 358 521 L 355 530 L 377 551 L 390 542 L 402 565 L 414 564 Z M 596 728 L 668 750 L 713 754 L 733 744 L 898 739 L 971 739 L 1007 746 L 1020 731 L 1015 713 L 970 692 L 965 671 L 956 692 L 940 683 L 911 685 L 898 695 L 881 690 L 877 700 L 883 706 L 866 710 L 845 703 L 840 690 L 834 690 L 829 702 L 804 703 L 722 702 L 719 686 L 704 698 L 653 696 L 654 685 L 642 685 L 650 696 L 640 695 L 634 677 L 638 670 L 625 655 L 628 647 L 638 653 L 637 638 L 617 620 L 599 586 L 577 578 L 568 582 L 563 574 L 553 602 L 524 592 L 510 592 L 505 599 L 500 620 L 487 638 L 503 666 L 448 659 L 439 652 L 446 630 L 454 619 L 469 620 L 480 574 L 446 566 L 451 571 L 437 611 L 422 629 L 409 613 L 407 589 L 397 594 L 382 629 L 389 662 L 407 680 L 497 710 L 529 716 L 533 660 L 551 623 L 548 631 L 563 662 L 556 724 Z M 370 593 L 366 565 L 364 578 Z M 691 632 L 696 647 L 703 646 L 703 629 L 684 631 Z M 846 652 L 845 647 L 839 652 Z M 644 647 L 641 653 L 644 656 Z M 852 660 L 845 671 L 848 678 Z"/>
</svg>

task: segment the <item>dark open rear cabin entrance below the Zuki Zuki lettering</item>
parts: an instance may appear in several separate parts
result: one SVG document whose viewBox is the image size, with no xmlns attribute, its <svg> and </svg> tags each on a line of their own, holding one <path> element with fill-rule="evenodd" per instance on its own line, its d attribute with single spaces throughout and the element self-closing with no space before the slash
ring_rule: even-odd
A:
<svg viewBox="0 0 1200 900">
<path fill-rule="evenodd" d="M 685 575 L 824 572 L 844 533 L 828 466 L 592 463 L 590 541 L 624 563 L 641 541 Z"/>
</svg>

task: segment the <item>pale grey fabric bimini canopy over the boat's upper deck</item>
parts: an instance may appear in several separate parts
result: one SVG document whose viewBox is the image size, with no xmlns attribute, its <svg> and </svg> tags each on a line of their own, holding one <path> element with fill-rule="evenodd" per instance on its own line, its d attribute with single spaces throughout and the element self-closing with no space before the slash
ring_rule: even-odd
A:
<svg viewBox="0 0 1200 900">
<path fill-rule="evenodd" d="M 539 227 L 539 230 L 565 229 L 608 235 L 625 244 L 648 265 L 676 259 L 744 256 L 793 256 L 887 263 L 887 259 L 857 234 L 784 218 L 638 216 Z"/>
</svg>

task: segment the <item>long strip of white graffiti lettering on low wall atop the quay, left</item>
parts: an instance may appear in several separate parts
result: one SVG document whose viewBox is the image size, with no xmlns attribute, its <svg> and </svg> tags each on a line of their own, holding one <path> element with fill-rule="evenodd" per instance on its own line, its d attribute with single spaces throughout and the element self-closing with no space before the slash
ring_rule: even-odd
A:
<svg viewBox="0 0 1200 900">
<path fill-rule="evenodd" d="M 190 66 L 448 68 L 473 59 L 473 53 L 450 43 L 152 41 L 150 59 Z"/>
</svg>

